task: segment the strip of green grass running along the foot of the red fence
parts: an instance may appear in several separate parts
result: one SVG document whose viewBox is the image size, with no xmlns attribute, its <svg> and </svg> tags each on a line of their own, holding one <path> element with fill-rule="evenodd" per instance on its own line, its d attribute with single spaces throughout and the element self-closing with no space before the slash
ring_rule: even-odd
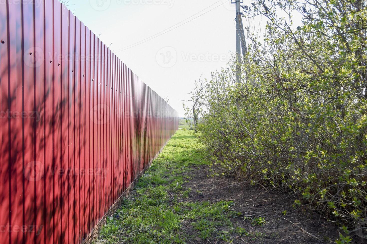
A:
<svg viewBox="0 0 367 244">
<path fill-rule="evenodd" d="M 135 191 L 103 227 L 99 243 L 229 241 L 229 233 L 247 234 L 230 221 L 241 215 L 231 210 L 233 202 L 190 200 L 190 194 L 195 193 L 184 186 L 190 178 L 189 170 L 209 164 L 195 159 L 201 156 L 196 150 L 200 145 L 191 133 L 178 130 L 169 140 Z"/>
</svg>

